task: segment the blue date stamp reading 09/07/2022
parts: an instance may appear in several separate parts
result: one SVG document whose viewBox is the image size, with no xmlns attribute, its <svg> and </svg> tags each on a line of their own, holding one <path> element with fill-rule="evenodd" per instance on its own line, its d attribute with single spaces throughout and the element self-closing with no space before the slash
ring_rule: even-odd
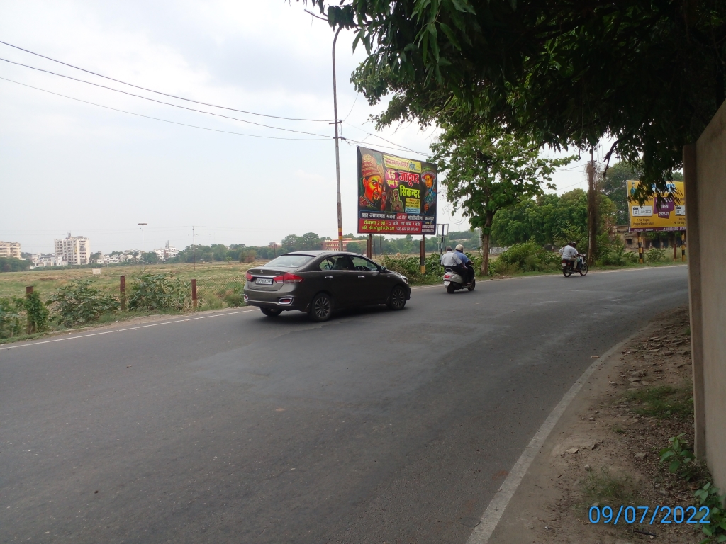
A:
<svg viewBox="0 0 726 544">
<path fill-rule="evenodd" d="M 617 506 L 615 508 L 618 508 Z M 626 524 L 668 524 L 668 523 L 711 523 L 709 514 L 711 510 L 708 506 L 624 506 L 621 505 L 617 510 L 611 506 L 590 506 L 588 513 L 590 523 L 618 523 Z"/>
</svg>

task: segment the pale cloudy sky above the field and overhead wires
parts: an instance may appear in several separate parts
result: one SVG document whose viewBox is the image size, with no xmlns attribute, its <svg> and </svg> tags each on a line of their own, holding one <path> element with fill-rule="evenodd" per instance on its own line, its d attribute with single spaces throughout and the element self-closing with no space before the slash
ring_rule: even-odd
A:
<svg viewBox="0 0 726 544">
<path fill-rule="evenodd" d="M 198 244 L 335 236 L 333 32 L 303 9 L 282 0 L 0 1 L 7 44 L 167 94 L 312 120 L 170 99 L 0 44 L 2 59 L 237 118 L 0 61 L 0 239 L 20 242 L 24 252 L 51 252 L 53 240 L 70 231 L 88 236 L 94 252 L 110 252 L 140 247 L 139 222 L 148 223 L 147 250 L 167 240 L 187 246 L 192 226 Z M 349 81 L 363 57 L 352 38 L 338 38 L 343 136 L 428 152 L 432 128 L 376 133 L 367 122 L 382 106 L 368 106 Z M 558 192 L 581 184 L 577 164 L 555 175 Z M 352 141 L 341 145 L 340 170 L 348 233 L 356 226 Z M 439 210 L 439 222 L 468 228 L 441 197 Z"/>
</svg>

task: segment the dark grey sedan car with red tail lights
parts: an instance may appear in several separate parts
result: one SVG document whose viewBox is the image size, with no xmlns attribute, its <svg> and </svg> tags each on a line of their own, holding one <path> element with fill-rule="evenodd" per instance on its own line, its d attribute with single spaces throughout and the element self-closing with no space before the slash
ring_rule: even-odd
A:
<svg viewBox="0 0 726 544">
<path fill-rule="evenodd" d="M 326 321 L 339 308 L 386 304 L 402 310 L 411 297 L 406 276 L 358 253 L 298 251 L 250 268 L 245 302 L 265 316 L 287 310 Z"/>
</svg>

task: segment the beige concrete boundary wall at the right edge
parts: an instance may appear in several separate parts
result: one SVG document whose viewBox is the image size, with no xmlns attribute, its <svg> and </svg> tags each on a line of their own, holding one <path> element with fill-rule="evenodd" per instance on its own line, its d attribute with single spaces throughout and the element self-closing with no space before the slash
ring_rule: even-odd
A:
<svg viewBox="0 0 726 544">
<path fill-rule="evenodd" d="M 726 102 L 683 150 L 696 454 L 726 489 Z"/>
</svg>

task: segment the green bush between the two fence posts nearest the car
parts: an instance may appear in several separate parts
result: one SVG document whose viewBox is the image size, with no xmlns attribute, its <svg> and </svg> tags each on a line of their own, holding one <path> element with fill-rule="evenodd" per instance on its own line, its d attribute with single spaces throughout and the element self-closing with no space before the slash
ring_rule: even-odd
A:
<svg viewBox="0 0 726 544">
<path fill-rule="evenodd" d="M 129 310 L 189 310 L 192 307 L 192 284 L 172 280 L 163 274 L 144 273 L 131 285 Z"/>
</svg>

